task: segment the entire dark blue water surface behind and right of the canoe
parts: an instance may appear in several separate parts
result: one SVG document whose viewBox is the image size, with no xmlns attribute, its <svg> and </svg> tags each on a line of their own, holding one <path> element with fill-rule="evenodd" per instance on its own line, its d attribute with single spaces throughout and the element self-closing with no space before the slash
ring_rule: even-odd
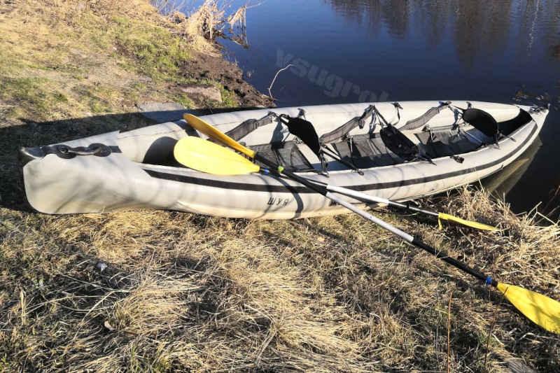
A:
<svg viewBox="0 0 560 373">
<path fill-rule="evenodd" d="M 247 10 L 246 34 L 248 48 L 220 42 L 262 92 L 296 65 L 274 83 L 279 106 L 550 103 L 542 144 L 491 188 L 526 211 L 560 185 L 560 0 L 265 0 Z"/>
</svg>

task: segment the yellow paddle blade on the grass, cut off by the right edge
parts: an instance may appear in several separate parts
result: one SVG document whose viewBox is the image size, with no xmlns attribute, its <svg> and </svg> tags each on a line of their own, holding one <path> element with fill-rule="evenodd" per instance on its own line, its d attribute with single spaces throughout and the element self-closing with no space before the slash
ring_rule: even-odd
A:
<svg viewBox="0 0 560 373">
<path fill-rule="evenodd" d="M 533 323 L 560 334 L 560 302 L 507 283 L 498 283 L 498 290 Z"/>
</svg>

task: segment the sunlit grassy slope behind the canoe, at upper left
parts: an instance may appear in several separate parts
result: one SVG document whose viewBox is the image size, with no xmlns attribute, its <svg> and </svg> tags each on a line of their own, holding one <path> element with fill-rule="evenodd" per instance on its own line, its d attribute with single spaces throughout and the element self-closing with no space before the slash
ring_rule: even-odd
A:
<svg viewBox="0 0 560 373">
<path fill-rule="evenodd" d="M 0 3 L 0 16 L 0 105 L 10 119 L 120 113 L 141 101 L 239 104 L 227 82 L 202 76 L 196 63 L 204 47 L 193 48 L 186 26 L 148 1 L 15 0 Z M 209 53 L 218 55 L 211 48 L 202 55 L 209 69 Z M 237 73 L 225 62 L 221 68 L 225 78 Z M 214 85 L 222 102 L 196 102 L 181 92 L 184 84 Z"/>
</svg>

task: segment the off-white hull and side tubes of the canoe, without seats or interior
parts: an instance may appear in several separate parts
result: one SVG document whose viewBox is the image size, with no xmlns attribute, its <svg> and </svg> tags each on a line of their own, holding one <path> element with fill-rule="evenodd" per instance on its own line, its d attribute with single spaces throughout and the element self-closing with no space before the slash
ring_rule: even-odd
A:
<svg viewBox="0 0 560 373">
<path fill-rule="evenodd" d="M 407 120 L 417 118 L 428 108 L 439 104 L 439 101 L 400 102 L 400 111 L 396 111 L 391 103 L 377 103 L 375 106 L 388 122 L 398 128 Z M 454 101 L 453 104 L 457 107 L 468 105 L 465 101 Z M 520 111 L 525 111 L 531 118 L 510 133 L 509 137 L 500 139 L 498 146 L 489 143 L 458 154 L 462 162 L 450 156 L 435 157 L 433 164 L 419 160 L 370 167 L 362 169 L 363 175 L 330 162 L 335 166 L 329 170 L 328 177 L 314 172 L 300 175 L 398 201 L 433 195 L 474 183 L 513 162 L 535 141 L 548 113 L 546 108 L 475 101 L 471 101 L 471 104 L 490 113 L 498 122 L 512 120 L 519 116 Z M 368 105 L 339 104 L 307 106 L 303 109 L 305 118 L 314 124 L 321 136 L 349 119 L 362 115 Z M 275 108 L 274 113 L 297 116 L 299 109 Z M 237 111 L 201 118 L 222 132 L 227 132 L 245 120 L 262 118 L 268 112 L 269 109 Z M 456 113 L 445 110 L 430 120 L 429 125 L 433 130 L 447 128 L 456 123 L 456 119 Z M 367 134 L 370 130 L 365 125 L 362 129 L 356 127 L 350 134 L 357 136 Z M 421 131 L 403 132 L 414 138 L 416 132 Z M 470 133 L 475 132 L 476 129 Z M 184 120 L 179 120 L 129 132 L 109 132 L 64 142 L 65 146 L 71 148 L 102 143 L 111 149 L 106 156 L 77 155 L 66 159 L 55 153 L 44 154 L 45 148 L 27 148 L 23 150 L 27 199 L 34 209 L 43 213 L 98 213 L 148 208 L 231 218 L 289 219 L 345 212 L 341 206 L 332 205 L 329 199 L 286 178 L 264 174 L 216 176 L 151 162 L 151 159 L 165 155 L 158 153 L 167 153 L 177 140 L 189 134 L 205 137 L 197 134 Z M 290 136 L 280 124 L 273 124 L 255 129 L 242 141 L 252 146 L 278 139 L 290 140 Z M 301 145 L 300 148 L 311 164 L 317 167 L 318 160 L 313 158 L 307 146 Z M 351 198 L 345 199 L 356 202 Z"/>
</svg>

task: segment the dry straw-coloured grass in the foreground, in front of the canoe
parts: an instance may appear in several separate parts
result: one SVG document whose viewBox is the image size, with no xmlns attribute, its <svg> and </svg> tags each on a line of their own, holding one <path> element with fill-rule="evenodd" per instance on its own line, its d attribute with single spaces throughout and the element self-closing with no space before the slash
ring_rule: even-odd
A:
<svg viewBox="0 0 560 373">
<path fill-rule="evenodd" d="M 440 232 L 416 217 L 377 215 L 560 299 L 557 225 L 532 225 L 534 216 L 514 216 L 484 192 L 433 203 L 502 230 Z M 560 367 L 558 336 L 356 216 L 1 213 L 4 370 L 444 371 L 451 292 L 452 372 L 498 372 L 511 358 Z"/>
</svg>

